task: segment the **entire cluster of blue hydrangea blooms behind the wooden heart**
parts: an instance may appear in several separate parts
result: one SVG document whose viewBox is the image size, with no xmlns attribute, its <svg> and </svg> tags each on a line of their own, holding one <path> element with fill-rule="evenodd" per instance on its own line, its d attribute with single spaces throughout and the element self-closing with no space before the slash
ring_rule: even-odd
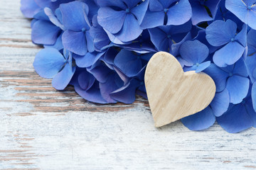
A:
<svg viewBox="0 0 256 170">
<path fill-rule="evenodd" d="M 256 127 L 256 0 L 21 0 L 21 11 L 44 47 L 33 66 L 55 89 L 133 103 L 146 98 L 147 62 L 165 51 L 215 81 L 210 106 L 181 120 L 187 128 Z"/>
</svg>

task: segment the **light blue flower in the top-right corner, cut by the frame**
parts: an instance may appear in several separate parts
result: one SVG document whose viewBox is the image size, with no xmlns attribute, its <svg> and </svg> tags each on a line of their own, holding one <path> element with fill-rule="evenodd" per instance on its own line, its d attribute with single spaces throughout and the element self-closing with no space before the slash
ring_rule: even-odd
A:
<svg viewBox="0 0 256 170">
<path fill-rule="evenodd" d="M 256 30 L 256 0 L 226 0 L 225 7 L 243 23 Z"/>
</svg>

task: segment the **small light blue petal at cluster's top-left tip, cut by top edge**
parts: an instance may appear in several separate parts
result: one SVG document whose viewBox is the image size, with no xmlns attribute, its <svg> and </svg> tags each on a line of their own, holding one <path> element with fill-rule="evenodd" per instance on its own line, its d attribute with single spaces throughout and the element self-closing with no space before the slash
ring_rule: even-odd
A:
<svg viewBox="0 0 256 170">
<path fill-rule="evenodd" d="M 41 8 L 34 0 L 21 0 L 21 12 L 26 18 L 33 18 L 40 10 Z"/>
</svg>

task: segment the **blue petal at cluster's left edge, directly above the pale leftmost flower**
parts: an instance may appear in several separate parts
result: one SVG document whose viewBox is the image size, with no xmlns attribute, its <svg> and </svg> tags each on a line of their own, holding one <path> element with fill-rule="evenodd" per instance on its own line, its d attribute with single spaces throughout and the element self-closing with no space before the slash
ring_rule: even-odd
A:
<svg viewBox="0 0 256 170">
<path fill-rule="evenodd" d="M 54 45 L 59 34 L 60 28 L 53 23 L 38 20 L 33 23 L 31 39 L 36 44 Z"/>
</svg>

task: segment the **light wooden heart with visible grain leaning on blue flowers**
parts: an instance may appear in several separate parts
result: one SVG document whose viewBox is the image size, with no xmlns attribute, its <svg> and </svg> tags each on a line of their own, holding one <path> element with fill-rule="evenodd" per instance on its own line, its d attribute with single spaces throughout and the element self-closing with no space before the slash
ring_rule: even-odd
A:
<svg viewBox="0 0 256 170">
<path fill-rule="evenodd" d="M 215 84 L 207 74 L 183 72 L 167 52 L 157 52 L 146 67 L 146 94 L 156 127 L 193 115 L 215 96 Z"/>
</svg>

